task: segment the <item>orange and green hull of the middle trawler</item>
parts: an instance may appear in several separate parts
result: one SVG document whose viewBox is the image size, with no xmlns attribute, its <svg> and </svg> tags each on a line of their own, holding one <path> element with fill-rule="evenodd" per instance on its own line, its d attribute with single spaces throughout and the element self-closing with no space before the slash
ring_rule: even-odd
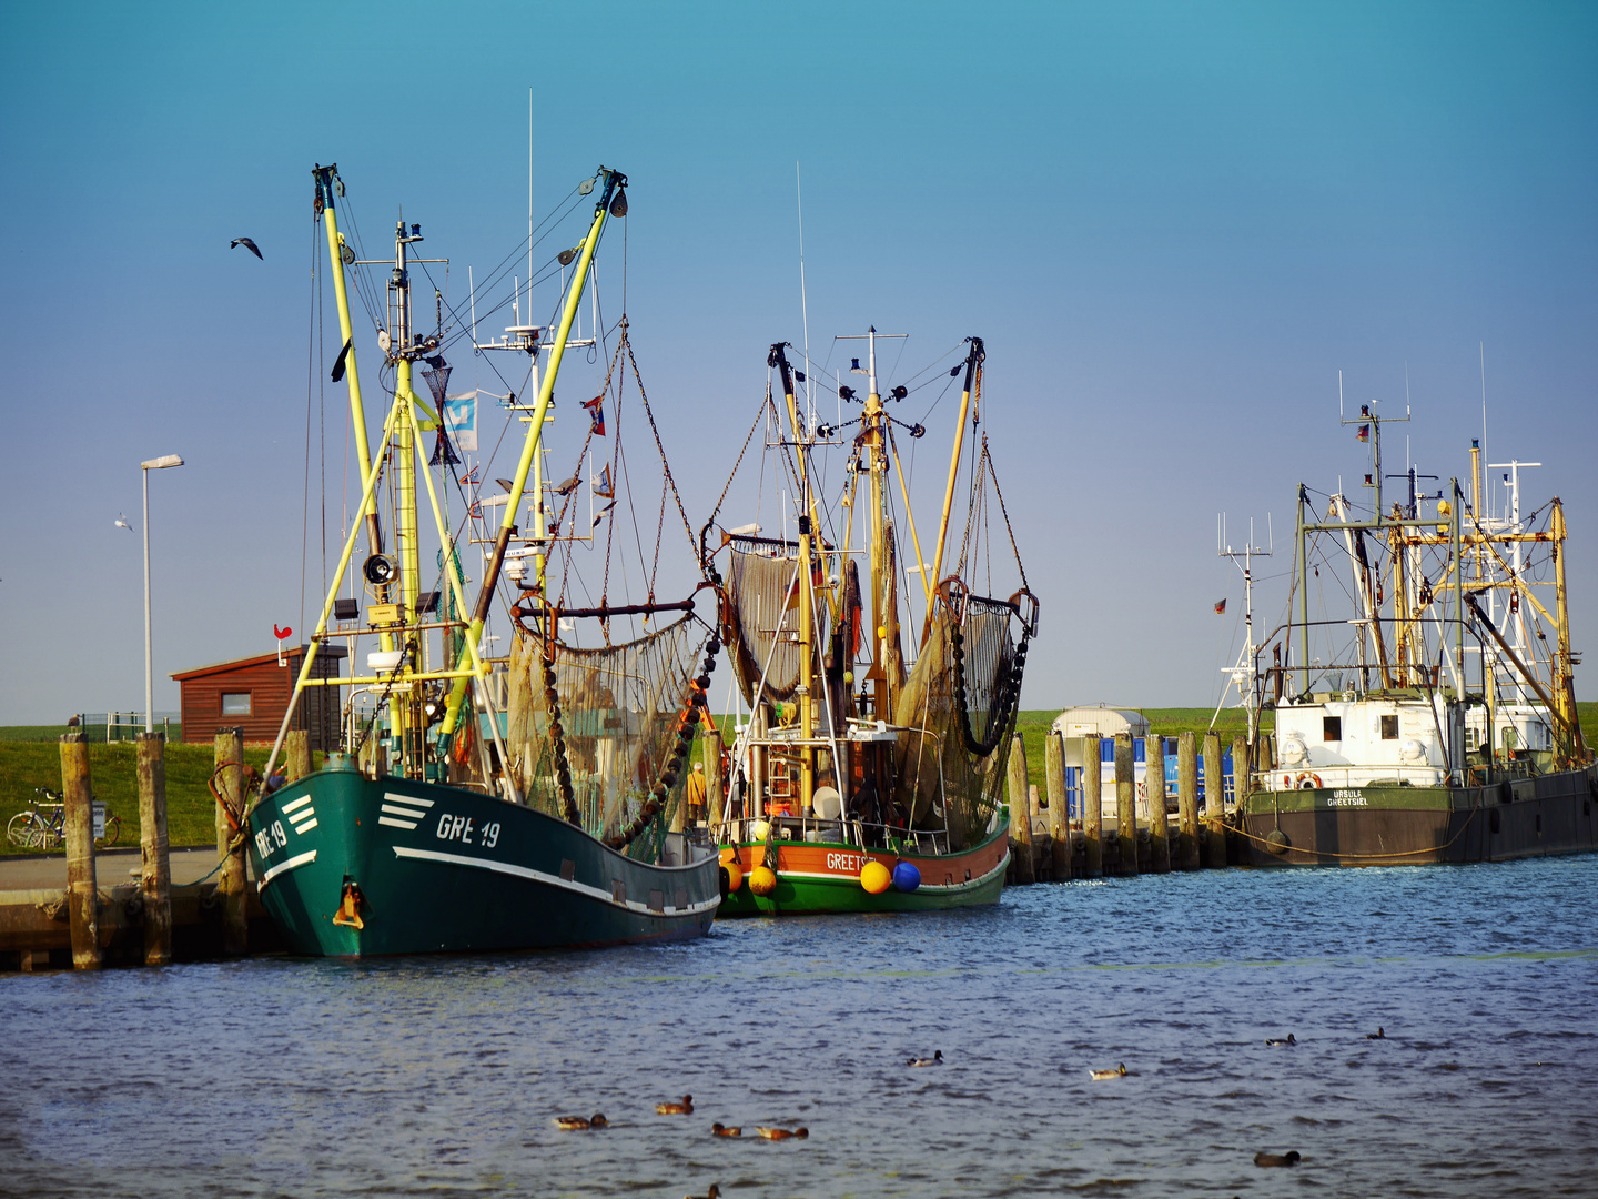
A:
<svg viewBox="0 0 1598 1199">
<path fill-rule="evenodd" d="M 756 895 L 749 871 L 765 860 L 765 844 L 746 841 L 725 846 L 738 854 L 743 886 L 727 895 L 721 916 L 821 916 L 842 911 L 928 911 L 997 903 L 1010 865 L 1010 835 L 1000 830 L 964 854 L 914 854 L 860 846 L 780 841 L 777 842 L 777 889 Z M 880 895 L 860 886 L 868 860 L 880 862 L 892 874 L 900 862 L 920 871 L 914 890 L 888 887 Z"/>
</svg>

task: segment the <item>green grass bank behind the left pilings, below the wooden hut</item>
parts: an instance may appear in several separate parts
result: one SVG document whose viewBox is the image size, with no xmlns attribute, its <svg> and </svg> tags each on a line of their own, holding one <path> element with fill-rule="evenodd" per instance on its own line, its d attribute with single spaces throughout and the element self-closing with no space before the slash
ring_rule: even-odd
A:
<svg viewBox="0 0 1598 1199">
<path fill-rule="evenodd" d="M 131 742 L 89 745 L 89 777 L 94 798 L 107 814 L 121 817 L 118 846 L 139 844 L 139 769 Z M 316 755 L 318 758 L 321 755 Z M 216 803 L 206 790 L 214 753 L 209 745 L 166 747 L 166 836 L 174 846 L 216 844 Z M 246 747 L 244 761 L 260 769 L 267 747 Z M 0 825 L 30 807 L 35 787 L 61 790 L 61 748 L 56 742 L 24 742 L 0 734 Z M 10 841 L 0 852 L 24 854 Z M 64 852 L 64 850 L 58 850 Z"/>
</svg>

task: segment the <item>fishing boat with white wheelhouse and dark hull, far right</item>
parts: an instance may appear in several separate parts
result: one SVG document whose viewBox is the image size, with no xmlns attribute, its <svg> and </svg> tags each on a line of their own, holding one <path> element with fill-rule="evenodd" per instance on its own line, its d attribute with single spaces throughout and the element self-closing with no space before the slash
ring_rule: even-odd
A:
<svg viewBox="0 0 1598 1199">
<path fill-rule="evenodd" d="M 1429 476 L 1411 467 L 1398 476 L 1406 499 L 1384 507 L 1382 422 L 1369 406 L 1346 422 L 1373 441 L 1368 516 L 1342 494 L 1317 516 L 1299 488 L 1290 619 L 1266 638 L 1272 665 L 1253 671 L 1251 703 L 1275 710 L 1275 755 L 1238 803 L 1246 858 L 1403 865 L 1598 849 L 1564 507 L 1523 510 L 1520 473 L 1534 464 L 1510 462 L 1494 510 L 1477 441 L 1469 489 L 1454 478 L 1422 494 Z M 1347 582 L 1342 606 L 1328 598 L 1334 580 Z"/>
</svg>

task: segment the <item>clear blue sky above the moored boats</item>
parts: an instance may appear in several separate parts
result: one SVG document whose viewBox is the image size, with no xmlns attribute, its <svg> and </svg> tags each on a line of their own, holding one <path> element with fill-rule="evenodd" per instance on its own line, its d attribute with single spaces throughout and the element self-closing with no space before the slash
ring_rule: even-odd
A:
<svg viewBox="0 0 1598 1199">
<path fill-rule="evenodd" d="M 1301 480 L 1368 470 L 1339 369 L 1401 403 L 1408 364 L 1413 454 L 1462 476 L 1483 342 L 1489 454 L 1563 496 L 1593 647 L 1588 5 L 91 3 L 0 32 L 0 723 L 142 702 L 113 526 L 141 459 L 189 460 L 152 480 L 157 707 L 299 620 L 310 166 L 368 249 L 403 205 L 459 286 L 524 233 L 529 88 L 540 213 L 599 161 L 633 181 L 634 341 L 690 510 L 801 339 L 796 161 L 813 342 L 874 323 L 909 366 L 986 337 L 1043 600 L 1026 707 L 1214 702 L 1242 606 L 1216 513 L 1285 550 Z M 1283 601 L 1267 579 L 1266 625 Z"/>
</svg>

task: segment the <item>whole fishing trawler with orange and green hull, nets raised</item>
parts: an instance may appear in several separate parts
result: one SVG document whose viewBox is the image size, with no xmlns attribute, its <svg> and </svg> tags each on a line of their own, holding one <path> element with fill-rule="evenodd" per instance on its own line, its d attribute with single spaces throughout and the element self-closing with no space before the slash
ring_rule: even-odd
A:
<svg viewBox="0 0 1598 1199">
<path fill-rule="evenodd" d="M 946 357 L 880 393 L 882 334 L 860 341 L 866 366 L 853 358 L 852 371 L 866 393 L 841 371 L 836 420 L 797 390 L 818 366 L 797 371 L 789 347 L 770 350 L 756 428 L 777 462 L 761 478 L 788 481 L 793 510 L 778 507 L 794 536 L 761 536 L 756 521 L 721 529 L 711 548 L 714 515 L 702 534 L 706 561 L 725 576 L 722 639 L 745 713 L 727 803 L 713 814 L 729 876 L 722 916 L 996 903 L 1010 865 L 1005 763 L 1037 600 L 981 425 L 986 349 L 967 339 L 964 361 L 944 369 Z M 919 440 L 925 427 L 888 404 L 904 403 L 917 379 L 948 390 L 962 374 L 941 521 L 924 556 L 898 438 Z M 847 404 L 858 416 L 844 419 Z M 964 532 L 951 537 L 962 497 Z M 996 595 L 967 584 L 978 576 Z"/>
</svg>

